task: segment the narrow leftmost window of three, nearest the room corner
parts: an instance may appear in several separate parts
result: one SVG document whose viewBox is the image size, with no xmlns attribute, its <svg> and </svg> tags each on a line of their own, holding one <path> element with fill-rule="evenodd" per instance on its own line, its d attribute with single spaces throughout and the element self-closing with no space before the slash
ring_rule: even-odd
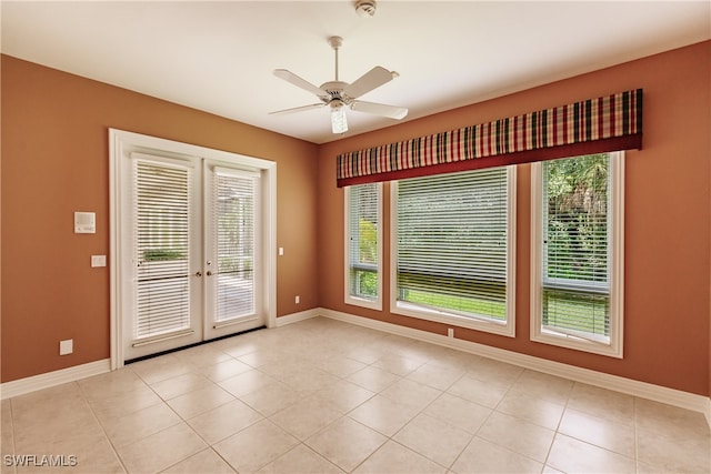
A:
<svg viewBox="0 0 711 474">
<path fill-rule="evenodd" d="M 382 184 L 346 188 L 346 303 L 382 310 Z"/>
</svg>

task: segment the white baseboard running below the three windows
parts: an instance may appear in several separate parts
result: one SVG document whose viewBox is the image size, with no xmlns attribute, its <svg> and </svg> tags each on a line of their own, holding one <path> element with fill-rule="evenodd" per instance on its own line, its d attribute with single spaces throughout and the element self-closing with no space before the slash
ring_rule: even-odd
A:
<svg viewBox="0 0 711 474">
<path fill-rule="evenodd" d="M 639 396 L 641 399 L 652 400 L 654 402 L 665 403 L 681 409 L 700 412 L 707 416 L 707 421 L 711 426 L 711 399 L 709 399 L 708 396 L 682 392 L 674 389 L 668 389 L 660 385 L 653 385 L 651 383 L 625 379 L 618 375 L 591 371 L 574 365 L 568 365 L 560 362 L 534 357 L 532 355 L 520 354 L 518 352 L 478 344 L 475 342 L 463 341 L 460 339 L 448 337 L 445 335 L 434 334 L 427 331 L 400 326 L 398 324 L 356 316 L 353 314 L 342 313 L 339 311 L 321 309 L 320 314 L 333 320 L 343 321 L 347 323 L 357 324 L 391 334 L 402 335 L 405 337 L 411 337 L 445 347 L 457 349 L 463 352 L 469 352 L 471 354 L 494 359 L 501 362 L 508 362 L 510 364 L 518 365 L 524 369 L 543 372 L 550 375 L 557 375 L 575 382 L 582 382 L 590 385 L 600 386 L 602 389 L 613 390 L 615 392 L 622 392 L 629 395 Z"/>
</svg>

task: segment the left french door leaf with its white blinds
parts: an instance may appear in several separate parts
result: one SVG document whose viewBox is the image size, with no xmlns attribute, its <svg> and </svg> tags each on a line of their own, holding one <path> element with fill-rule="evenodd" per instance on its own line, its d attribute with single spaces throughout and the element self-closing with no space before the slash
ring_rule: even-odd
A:
<svg viewBox="0 0 711 474">
<path fill-rule="evenodd" d="M 132 352 L 199 341 L 197 172 L 190 161 L 133 154 Z"/>
</svg>

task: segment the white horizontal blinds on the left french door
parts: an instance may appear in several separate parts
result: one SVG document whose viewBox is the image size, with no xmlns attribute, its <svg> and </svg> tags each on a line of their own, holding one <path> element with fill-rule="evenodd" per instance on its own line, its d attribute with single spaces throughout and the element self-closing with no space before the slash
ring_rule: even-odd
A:
<svg viewBox="0 0 711 474">
<path fill-rule="evenodd" d="M 190 327 L 190 173 L 134 160 L 137 340 Z"/>
</svg>

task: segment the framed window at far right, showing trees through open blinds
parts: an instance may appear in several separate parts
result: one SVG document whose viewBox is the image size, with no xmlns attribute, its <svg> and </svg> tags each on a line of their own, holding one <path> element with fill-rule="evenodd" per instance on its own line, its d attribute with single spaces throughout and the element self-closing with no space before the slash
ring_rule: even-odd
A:
<svg viewBox="0 0 711 474">
<path fill-rule="evenodd" d="M 531 339 L 622 356 L 622 153 L 532 165 Z"/>
</svg>

